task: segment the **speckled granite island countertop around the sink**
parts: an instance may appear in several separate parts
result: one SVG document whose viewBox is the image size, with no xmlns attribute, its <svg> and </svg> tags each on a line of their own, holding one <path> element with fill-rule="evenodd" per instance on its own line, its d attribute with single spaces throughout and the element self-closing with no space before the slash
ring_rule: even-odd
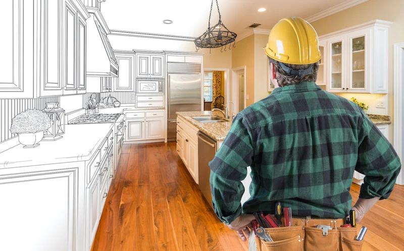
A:
<svg viewBox="0 0 404 251">
<path fill-rule="evenodd" d="M 197 116 L 219 116 L 223 117 L 222 113 L 220 112 L 211 112 L 211 111 L 199 111 L 199 112 L 177 112 L 178 116 L 183 118 L 184 120 L 188 121 L 196 128 L 198 128 L 201 132 L 207 134 L 209 137 L 213 138 L 216 141 L 223 141 L 227 133 L 229 133 L 231 121 L 227 120 L 227 122 L 220 122 L 220 123 L 200 123 L 192 117 Z"/>
</svg>

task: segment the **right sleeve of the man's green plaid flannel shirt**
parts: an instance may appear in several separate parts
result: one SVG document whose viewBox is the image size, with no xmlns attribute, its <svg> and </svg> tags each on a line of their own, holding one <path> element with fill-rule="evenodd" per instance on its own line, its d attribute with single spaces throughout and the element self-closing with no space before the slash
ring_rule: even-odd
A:
<svg viewBox="0 0 404 251">
<path fill-rule="evenodd" d="M 359 197 L 387 199 L 401 169 L 400 159 L 390 142 L 365 114 L 359 137 L 355 170 L 365 175 Z"/>
</svg>

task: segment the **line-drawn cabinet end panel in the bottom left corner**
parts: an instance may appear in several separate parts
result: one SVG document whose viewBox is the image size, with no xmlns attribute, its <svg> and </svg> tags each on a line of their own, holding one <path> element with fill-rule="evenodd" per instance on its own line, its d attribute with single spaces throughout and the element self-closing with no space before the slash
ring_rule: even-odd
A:
<svg viewBox="0 0 404 251">
<path fill-rule="evenodd" d="M 1 250 L 82 250 L 76 164 L 2 170 L 0 194 L 7 205 L 0 208 Z"/>
</svg>

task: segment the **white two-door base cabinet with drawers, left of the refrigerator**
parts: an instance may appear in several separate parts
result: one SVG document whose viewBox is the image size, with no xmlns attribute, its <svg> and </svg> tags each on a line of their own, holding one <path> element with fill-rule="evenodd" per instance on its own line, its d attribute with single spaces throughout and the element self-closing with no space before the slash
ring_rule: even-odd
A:
<svg viewBox="0 0 404 251">
<path fill-rule="evenodd" d="M 159 140 L 165 138 L 165 110 L 127 111 L 125 141 Z"/>
</svg>

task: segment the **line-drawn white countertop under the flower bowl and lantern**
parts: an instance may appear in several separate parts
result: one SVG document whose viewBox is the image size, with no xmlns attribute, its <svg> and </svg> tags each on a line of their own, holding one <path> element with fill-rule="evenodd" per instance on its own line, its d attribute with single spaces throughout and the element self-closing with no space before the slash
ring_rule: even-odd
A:
<svg viewBox="0 0 404 251">
<path fill-rule="evenodd" d="M 66 125 L 61 139 L 40 141 L 35 148 L 18 144 L 0 153 L 0 170 L 89 160 L 113 126 L 113 123 Z"/>
</svg>

